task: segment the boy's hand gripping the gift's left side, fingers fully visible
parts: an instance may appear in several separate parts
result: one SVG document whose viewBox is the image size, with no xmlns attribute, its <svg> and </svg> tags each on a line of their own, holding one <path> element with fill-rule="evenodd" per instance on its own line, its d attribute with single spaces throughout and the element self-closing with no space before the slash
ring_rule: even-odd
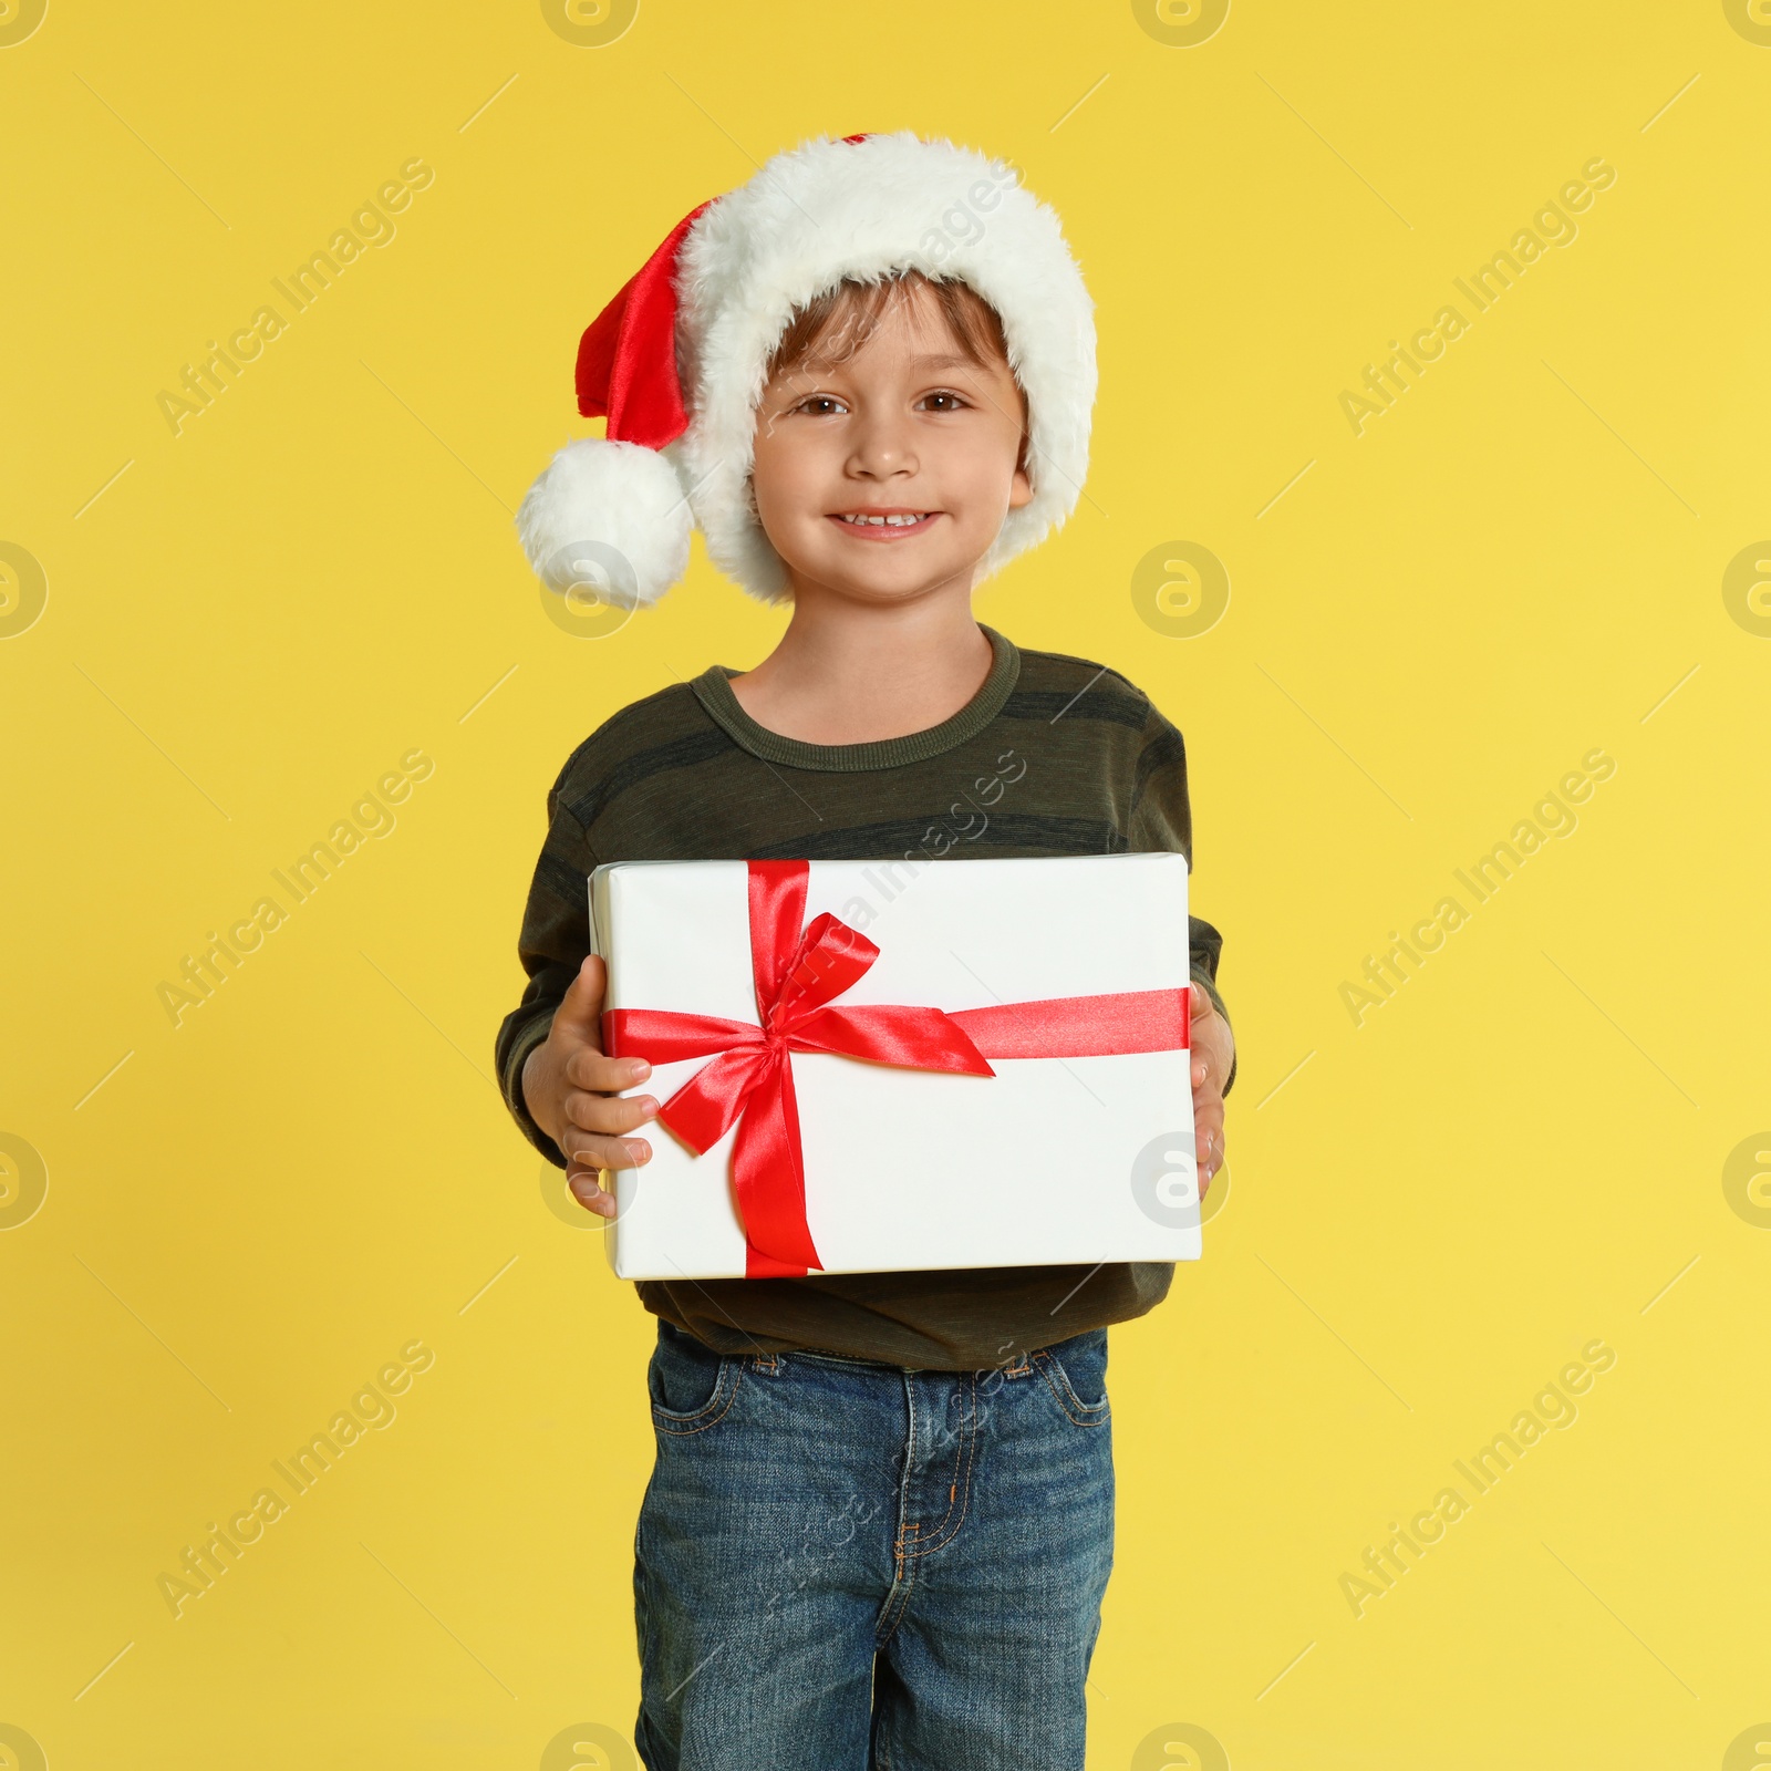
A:
<svg viewBox="0 0 1771 1771">
<path fill-rule="evenodd" d="M 643 1057 L 607 1057 L 602 1050 L 602 994 L 607 972 L 592 953 L 554 1009 L 547 1038 L 522 1066 L 522 1098 L 535 1123 L 567 1158 L 567 1187 L 597 1217 L 615 1217 L 615 1194 L 600 1185 L 602 1169 L 634 1169 L 652 1158 L 643 1137 L 622 1137 L 657 1116 L 650 1094 L 613 1100 L 652 1075 Z"/>
</svg>

